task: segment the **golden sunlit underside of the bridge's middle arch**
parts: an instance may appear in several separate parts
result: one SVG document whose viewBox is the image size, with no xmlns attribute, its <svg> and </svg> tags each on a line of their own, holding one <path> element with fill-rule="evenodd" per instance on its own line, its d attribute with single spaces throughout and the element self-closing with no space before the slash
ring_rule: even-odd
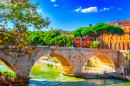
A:
<svg viewBox="0 0 130 86">
<path fill-rule="evenodd" d="M 62 66 L 62 73 L 64 75 L 73 76 L 73 74 L 74 74 L 73 68 L 70 65 L 69 61 L 65 57 L 63 57 L 62 55 L 59 55 L 59 54 L 54 54 L 54 53 L 46 54 L 46 55 L 43 55 L 43 56 L 53 56 L 53 57 L 55 57 L 57 60 L 59 60 L 61 66 Z M 39 57 L 39 58 L 41 58 L 41 57 Z M 35 65 L 36 61 L 34 62 L 34 64 L 32 65 L 32 67 Z M 31 68 L 31 70 L 32 70 L 32 68 Z M 31 70 L 30 70 L 30 72 L 31 72 Z"/>
</svg>

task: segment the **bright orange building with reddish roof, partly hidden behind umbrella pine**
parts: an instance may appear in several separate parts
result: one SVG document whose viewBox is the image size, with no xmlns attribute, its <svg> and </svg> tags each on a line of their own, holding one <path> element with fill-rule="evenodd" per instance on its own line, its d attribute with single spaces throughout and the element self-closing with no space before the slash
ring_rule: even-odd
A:
<svg viewBox="0 0 130 86">
<path fill-rule="evenodd" d="M 125 34 L 122 36 L 103 35 L 103 38 L 101 37 L 101 39 L 103 39 L 104 44 L 111 49 L 128 50 L 130 45 L 130 20 L 116 21 L 108 24 L 121 27 Z"/>
</svg>

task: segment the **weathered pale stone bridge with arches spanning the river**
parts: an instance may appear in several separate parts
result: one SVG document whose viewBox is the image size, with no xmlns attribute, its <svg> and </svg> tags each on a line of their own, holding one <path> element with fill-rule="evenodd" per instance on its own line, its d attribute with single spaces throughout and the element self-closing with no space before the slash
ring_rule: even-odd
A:
<svg viewBox="0 0 130 86">
<path fill-rule="evenodd" d="M 110 49 L 88 49 L 88 48 L 72 48 L 72 47 L 37 47 L 39 50 L 37 55 L 32 53 L 29 57 L 17 57 L 17 53 L 11 53 L 15 56 L 12 58 L 0 51 L 0 59 L 5 62 L 11 71 L 14 71 L 19 76 L 29 77 L 30 71 L 35 62 L 43 55 L 49 54 L 55 56 L 62 65 L 63 74 L 79 75 L 85 63 L 92 57 L 96 56 L 102 64 L 107 64 L 117 68 L 124 66 L 129 69 L 129 51 L 118 51 Z"/>
</svg>

